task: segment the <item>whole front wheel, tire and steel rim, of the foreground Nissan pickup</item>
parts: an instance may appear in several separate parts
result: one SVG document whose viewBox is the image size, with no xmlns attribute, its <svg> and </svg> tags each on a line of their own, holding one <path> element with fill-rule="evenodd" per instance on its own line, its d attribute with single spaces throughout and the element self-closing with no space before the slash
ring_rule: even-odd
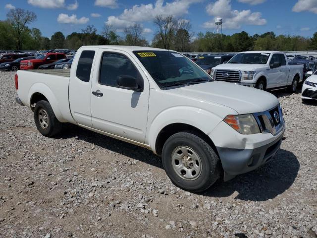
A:
<svg viewBox="0 0 317 238">
<path fill-rule="evenodd" d="M 167 176 L 178 187 L 200 192 L 220 178 L 221 164 L 211 146 L 194 132 L 169 137 L 162 150 Z"/>
</svg>

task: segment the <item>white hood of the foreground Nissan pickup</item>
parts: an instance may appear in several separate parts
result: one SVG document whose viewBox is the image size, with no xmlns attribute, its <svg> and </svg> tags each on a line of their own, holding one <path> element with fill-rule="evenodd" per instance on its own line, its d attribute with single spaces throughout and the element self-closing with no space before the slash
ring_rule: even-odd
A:
<svg viewBox="0 0 317 238">
<path fill-rule="evenodd" d="M 170 89 L 171 92 L 232 108 L 238 114 L 260 113 L 276 107 L 278 99 L 271 93 L 222 81 L 194 84 Z"/>
</svg>

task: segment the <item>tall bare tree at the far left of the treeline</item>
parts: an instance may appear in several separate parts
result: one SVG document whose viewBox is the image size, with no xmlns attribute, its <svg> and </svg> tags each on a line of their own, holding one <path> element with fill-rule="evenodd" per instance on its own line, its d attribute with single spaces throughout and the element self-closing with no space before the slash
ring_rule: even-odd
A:
<svg viewBox="0 0 317 238">
<path fill-rule="evenodd" d="M 37 19 L 37 16 L 34 12 L 24 10 L 21 8 L 11 9 L 6 17 L 12 25 L 13 34 L 16 38 L 16 48 L 17 50 L 22 49 L 22 34 L 27 29 L 27 25 L 32 23 Z"/>
</svg>

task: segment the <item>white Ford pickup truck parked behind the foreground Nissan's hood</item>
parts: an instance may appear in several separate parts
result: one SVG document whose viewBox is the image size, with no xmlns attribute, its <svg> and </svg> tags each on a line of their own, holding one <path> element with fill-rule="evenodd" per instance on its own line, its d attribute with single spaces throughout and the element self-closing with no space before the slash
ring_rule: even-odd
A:
<svg viewBox="0 0 317 238">
<path fill-rule="evenodd" d="M 288 88 L 295 92 L 303 81 L 304 67 L 288 65 L 283 52 L 248 51 L 212 68 L 216 81 L 226 81 L 261 90 Z"/>
</svg>

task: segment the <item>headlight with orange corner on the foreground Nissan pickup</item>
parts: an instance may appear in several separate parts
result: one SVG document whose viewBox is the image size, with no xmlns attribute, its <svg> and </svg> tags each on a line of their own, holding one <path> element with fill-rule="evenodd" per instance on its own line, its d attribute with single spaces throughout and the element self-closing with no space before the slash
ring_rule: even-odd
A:
<svg viewBox="0 0 317 238">
<path fill-rule="evenodd" d="M 223 121 L 241 134 L 260 133 L 259 125 L 252 114 L 228 115 Z"/>
</svg>

